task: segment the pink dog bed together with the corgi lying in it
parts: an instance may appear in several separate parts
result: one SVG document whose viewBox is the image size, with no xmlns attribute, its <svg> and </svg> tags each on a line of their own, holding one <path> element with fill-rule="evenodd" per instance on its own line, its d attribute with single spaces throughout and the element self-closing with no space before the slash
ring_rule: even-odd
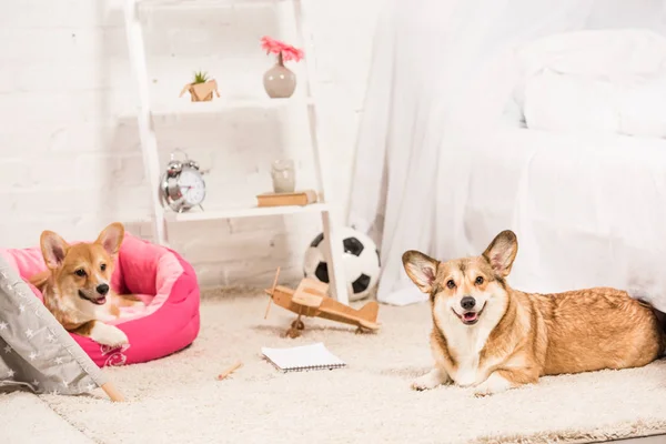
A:
<svg viewBox="0 0 666 444">
<path fill-rule="evenodd" d="M 163 357 L 199 334 L 192 266 L 120 223 L 93 242 L 68 243 L 46 231 L 40 246 L 0 254 L 99 366 Z"/>
</svg>

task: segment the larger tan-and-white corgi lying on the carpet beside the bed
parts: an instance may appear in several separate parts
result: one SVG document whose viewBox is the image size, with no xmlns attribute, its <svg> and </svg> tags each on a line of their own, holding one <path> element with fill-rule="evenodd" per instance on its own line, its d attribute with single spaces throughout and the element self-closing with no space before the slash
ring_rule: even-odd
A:
<svg viewBox="0 0 666 444">
<path fill-rule="evenodd" d="M 410 279 L 430 294 L 433 370 L 415 390 L 455 383 L 488 395 L 539 376 L 638 367 L 666 337 L 652 307 L 619 290 L 527 294 L 506 282 L 518 250 L 503 231 L 481 256 L 440 262 L 403 254 Z"/>
</svg>

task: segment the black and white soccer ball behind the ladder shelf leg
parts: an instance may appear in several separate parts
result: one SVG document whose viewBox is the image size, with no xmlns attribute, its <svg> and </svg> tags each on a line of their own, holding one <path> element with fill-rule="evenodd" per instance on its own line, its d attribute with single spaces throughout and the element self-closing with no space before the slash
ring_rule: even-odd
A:
<svg viewBox="0 0 666 444">
<path fill-rule="evenodd" d="M 380 252 L 372 239 L 354 229 L 344 226 L 340 234 L 344 245 L 343 266 L 350 301 L 365 299 L 380 279 Z M 305 250 L 303 274 L 305 278 L 329 283 L 329 245 L 323 240 L 324 233 L 320 233 Z"/>
</svg>

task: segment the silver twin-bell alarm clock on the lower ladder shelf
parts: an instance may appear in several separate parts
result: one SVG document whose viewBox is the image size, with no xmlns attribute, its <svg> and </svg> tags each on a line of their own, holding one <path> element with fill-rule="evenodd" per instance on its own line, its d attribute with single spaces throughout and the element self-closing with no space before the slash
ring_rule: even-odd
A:
<svg viewBox="0 0 666 444">
<path fill-rule="evenodd" d="M 175 152 L 181 152 L 185 159 L 175 159 Z M 203 210 L 201 206 L 201 202 L 205 198 L 203 173 L 196 162 L 188 159 L 188 154 L 182 150 L 174 150 L 160 182 L 162 206 L 168 205 L 179 213 L 194 206 Z"/>
</svg>

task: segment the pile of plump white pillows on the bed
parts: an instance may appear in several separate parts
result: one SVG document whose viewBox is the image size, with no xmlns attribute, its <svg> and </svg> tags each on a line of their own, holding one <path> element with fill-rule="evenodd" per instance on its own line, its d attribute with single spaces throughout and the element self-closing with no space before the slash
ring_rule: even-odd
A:
<svg viewBox="0 0 666 444">
<path fill-rule="evenodd" d="M 515 98 L 527 128 L 666 137 L 666 39 L 647 30 L 577 31 L 518 51 Z"/>
</svg>

